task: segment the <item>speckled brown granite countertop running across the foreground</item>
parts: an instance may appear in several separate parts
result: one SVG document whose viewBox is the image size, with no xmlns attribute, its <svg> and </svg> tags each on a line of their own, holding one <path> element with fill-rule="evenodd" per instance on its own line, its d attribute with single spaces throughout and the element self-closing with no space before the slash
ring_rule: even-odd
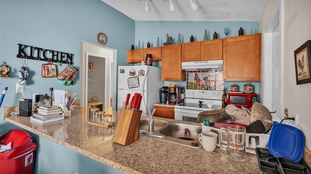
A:
<svg viewBox="0 0 311 174">
<path fill-rule="evenodd" d="M 120 112 L 104 110 L 117 122 Z M 4 114 L 4 113 L 3 113 Z M 128 174 L 261 174 L 256 155 L 246 161 L 227 160 L 226 151 L 207 152 L 140 135 L 130 145 L 112 141 L 115 128 L 87 123 L 88 108 L 71 111 L 71 117 L 38 125 L 30 117 L 5 116 L 4 119 L 27 131 L 63 145 L 86 157 Z M 56 132 L 56 133 L 55 133 Z"/>
</svg>

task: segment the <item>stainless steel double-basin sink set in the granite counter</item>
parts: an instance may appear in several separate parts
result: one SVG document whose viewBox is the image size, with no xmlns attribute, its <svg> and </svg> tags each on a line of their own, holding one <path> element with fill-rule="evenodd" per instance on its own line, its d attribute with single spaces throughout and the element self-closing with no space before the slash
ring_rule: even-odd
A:
<svg viewBox="0 0 311 174">
<path fill-rule="evenodd" d="M 197 123 L 173 120 L 168 118 L 154 116 L 154 132 L 148 132 L 149 117 L 142 116 L 139 121 L 142 135 L 151 136 L 155 139 L 185 145 L 192 148 L 201 148 L 198 140 L 199 133 L 202 132 L 202 126 Z M 185 135 L 185 129 L 188 133 Z M 191 145 L 192 142 L 198 143 L 198 146 Z"/>
</svg>

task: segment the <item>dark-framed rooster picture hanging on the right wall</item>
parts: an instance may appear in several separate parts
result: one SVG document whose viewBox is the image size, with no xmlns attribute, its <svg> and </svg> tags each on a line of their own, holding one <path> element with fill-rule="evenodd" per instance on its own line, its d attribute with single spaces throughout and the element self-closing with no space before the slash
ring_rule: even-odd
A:
<svg viewBox="0 0 311 174">
<path fill-rule="evenodd" d="M 295 55 L 295 69 L 296 69 L 296 84 L 310 83 L 310 70 L 311 70 L 311 56 L 310 47 L 311 40 L 301 45 L 294 51 Z"/>
</svg>

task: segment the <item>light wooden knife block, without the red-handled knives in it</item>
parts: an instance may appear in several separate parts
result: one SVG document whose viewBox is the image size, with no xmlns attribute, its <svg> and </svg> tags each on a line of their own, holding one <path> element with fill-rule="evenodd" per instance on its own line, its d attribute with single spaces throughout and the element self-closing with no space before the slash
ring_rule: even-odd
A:
<svg viewBox="0 0 311 174">
<path fill-rule="evenodd" d="M 113 142 L 129 145 L 139 138 L 140 113 L 134 110 L 121 109 Z"/>
</svg>

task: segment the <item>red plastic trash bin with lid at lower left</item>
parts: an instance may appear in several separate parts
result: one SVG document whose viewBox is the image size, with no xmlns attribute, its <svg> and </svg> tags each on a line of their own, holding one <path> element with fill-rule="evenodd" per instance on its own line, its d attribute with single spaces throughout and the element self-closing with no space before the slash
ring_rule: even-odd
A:
<svg viewBox="0 0 311 174">
<path fill-rule="evenodd" d="M 0 137 L 0 144 L 14 148 L 0 153 L 0 174 L 32 174 L 37 145 L 25 131 L 11 130 Z"/>
</svg>

